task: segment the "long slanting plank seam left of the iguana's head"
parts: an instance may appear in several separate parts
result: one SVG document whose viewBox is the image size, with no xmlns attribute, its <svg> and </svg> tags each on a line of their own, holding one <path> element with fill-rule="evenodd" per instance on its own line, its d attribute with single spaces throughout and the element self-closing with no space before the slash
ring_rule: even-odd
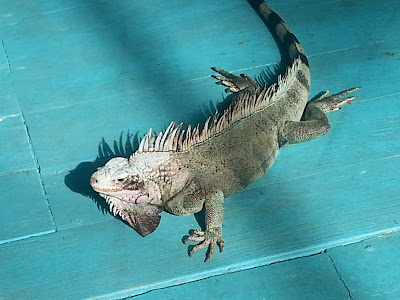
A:
<svg viewBox="0 0 400 300">
<path fill-rule="evenodd" d="M 13 72 L 12 72 L 12 68 L 11 68 L 10 58 L 9 58 L 7 50 L 6 50 L 6 46 L 5 46 L 4 40 L 1 38 L 0 41 L 1 41 L 1 45 L 3 47 L 5 58 L 7 60 L 8 71 L 9 71 L 9 73 L 11 75 L 11 78 L 12 78 L 13 77 L 12 76 Z M 14 81 L 13 80 L 11 81 L 11 84 L 12 84 L 12 89 L 13 89 L 14 94 L 15 94 L 15 98 L 16 98 L 17 103 L 18 103 L 19 111 L 21 112 L 21 119 L 22 119 L 23 126 L 24 126 L 24 129 L 25 129 L 26 137 L 28 139 L 28 144 L 29 144 L 29 148 L 30 148 L 30 151 L 31 151 L 31 156 L 32 156 L 32 159 L 33 159 L 33 161 L 35 163 L 36 170 L 38 172 L 40 186 L 42 188 L 42 193 L 43 193 L 43 196 L 44 196 L 44 200 L 46 202 L 47 210 L 48 210 L 49 216 L 50 216 L 50 220 L 51 220 L 51 223 L 53 225 L 53 230 L 52 231 L 56 232 L 57 231 L 57 226 L 56 226 L 56 223 L 54 221 L 53 211 L 52 211 L 52 209 L 50 207 L 49 197 L 48 197 L 46 186 L 44 184 L 43 177 L 42 177 L 42 174 L 41 174 L 40 164 L 39 164 L 38 157 L 36 155 L 36 150 L 35 150 L 35 147 L 33 146 L 33 143 L 32 143 L 32 137 L 31 137 L 31 134 L 29 132 L 28 124 L 26 122 L 26 117 L 25 117 L 24 111 L 22 110 L 21 103 L 18 100 L 18 96 L 17 96 L 17 93 L 15 91 L 15 85 L 14 85 Z"/>
</svg>

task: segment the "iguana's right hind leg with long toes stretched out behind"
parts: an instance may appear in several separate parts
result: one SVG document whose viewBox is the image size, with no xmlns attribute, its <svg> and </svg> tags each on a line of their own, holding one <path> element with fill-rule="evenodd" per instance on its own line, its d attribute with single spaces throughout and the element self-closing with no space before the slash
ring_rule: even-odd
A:
<svg viewBox="0 0 400 300">
<path fill-rule="evenodd" d="M 312 140 L 330 130 L 326 113 L 339 110 L 343 105 L 351 104 L 351 100 L 357 96 L 342 98 L 359 87 L 351 88 L 341 93 L 328 96 L 325 92 L 317 99 L 307 103 L 302 121 L 287 121 L 279 132 L 279 145 L 286 146 Z"/>
</svg>

